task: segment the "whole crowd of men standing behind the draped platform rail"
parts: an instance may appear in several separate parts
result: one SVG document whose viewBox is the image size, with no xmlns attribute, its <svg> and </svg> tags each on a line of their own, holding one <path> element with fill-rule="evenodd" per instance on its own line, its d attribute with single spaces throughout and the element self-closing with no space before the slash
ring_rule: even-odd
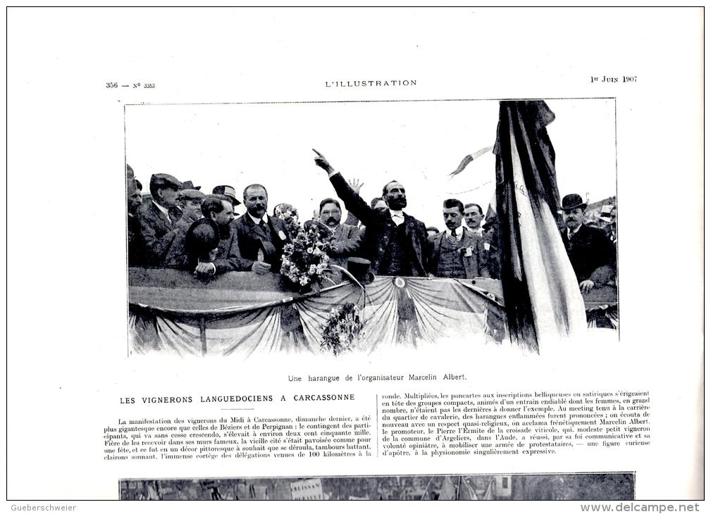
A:
<svg viewBox="0 0 711 514">
<path fill-rule="evenodd" d="M 440 231 L 405 212 L 407 195 L 399 181 L 385 184 L 382 196 L 368 203 L 360 197 L 358 181 L 346 181 L 321 154 L 315 161 L 341 201 L 324 198 L 315 219 L 306 223 L 318 223 L 325 233 L 334 264 L 346 267 L 349 257 L 361 257 L 378 275 L 499 277 L 501 235 L 495 217 L 484 221 L 480 205 L 444 200 L 446 230 Z M 167 173 L 151 176 L 145 200 L 141 187 L 127 166 L 129 266 L 183 269 L 201 277 L 280 271 L 293 232 L 282 218 L 267 213 L 269 195 L 261 184 L 245 187 L 241 199 L 233 186 L 205 194 Z M 246 212 L 235 219 L 239 205 Z M 614 283 L 616 274 L 614 210 L 607 211 L 606 230 L 601 230 L 583 223 L 586 206 L 575 194 L 560 206 L 561 237 L 583 292 Z"/>
</svg>

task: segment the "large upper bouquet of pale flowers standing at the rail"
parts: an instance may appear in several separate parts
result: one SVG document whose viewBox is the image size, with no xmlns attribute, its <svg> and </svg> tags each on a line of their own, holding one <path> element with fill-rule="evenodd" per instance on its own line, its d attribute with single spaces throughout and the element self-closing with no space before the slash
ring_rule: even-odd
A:
<svg viewBox="0 0 711 514">
<path fill-rule="evenodd" d="M 299 288 L 321 282 L 328 267 L 327 244 L 319 235 L 316 225 L 299 227 L 293 241 L 284 246 L 282 275 Z"/>
</svg>

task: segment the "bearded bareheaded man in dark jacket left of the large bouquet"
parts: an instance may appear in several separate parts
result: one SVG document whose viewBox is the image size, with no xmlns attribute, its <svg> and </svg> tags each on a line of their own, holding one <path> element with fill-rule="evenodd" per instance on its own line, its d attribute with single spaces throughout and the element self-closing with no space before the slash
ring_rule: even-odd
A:
<svg viewBox="0 0 711 514">
<path fill-rule="evenodd" d="M 292 242 L 287 225 L 267 215 L 269 196 L 261 184 L 247 186 L 242 198 L 247 213 L 233 222 L 240 246 L 240 271 L 279 273 L 284 245 Z"/>
</svg>

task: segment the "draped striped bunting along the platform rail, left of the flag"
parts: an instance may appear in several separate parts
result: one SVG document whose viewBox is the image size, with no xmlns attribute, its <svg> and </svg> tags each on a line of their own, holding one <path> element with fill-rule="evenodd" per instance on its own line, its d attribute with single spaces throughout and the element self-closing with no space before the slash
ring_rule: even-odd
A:
<svg viewBox="0 0 711 514">
<path fill-rule="evenodd" d="M 129 269 L 129 335 L 135 353 L 244 355 L 320 352 L 332 309 L 353 303 L 364 322 L 355 350 L 407 348 L 445 338 L 506 337 L 498 282 L 375 277 L 296 295 L 279 277 L 228 273 L 210 282 L 170 269 Z M 198 306 L 196 309 L 195 307 Z"/>
</svg>

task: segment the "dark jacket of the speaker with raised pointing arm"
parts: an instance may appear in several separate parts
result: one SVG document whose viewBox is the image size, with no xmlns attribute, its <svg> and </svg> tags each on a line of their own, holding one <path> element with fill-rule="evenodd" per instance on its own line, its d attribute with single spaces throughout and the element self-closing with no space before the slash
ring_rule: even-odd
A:
<svg viewBox="0 0 711 514">
<path fill-rule="evenodd" d="M 355 191 L 348 186 L 346 179 L 341 173 L 336 173 L 331 177 L 331 183 L 336 190 L 336 194 L 346 209 L 355 215 L 360 223 L 367 229 L 363 234 L 360 243 L 360 254 L 366 259 L 370 259 L 372 269 L 375 274 L 380 274 L 380 264 L 383 262 L 387 245 L 390 245 L 392 237 L 395 235 L 395 223 L 390 218 L 390 213 L 379 212 L 370 208 L 363 198 L 360 198 Z M 410 247 L 405 248 L 407 258 L 410 259 L 410 269 L 413 277 L 426 277 L 426 259 L 429 255 L 429 243 L 427 242 L 427 229 L 424 223 L 416 220 L 412 216 L 405 214 L 405 235 L 410 241 Z"/>
</svg>

